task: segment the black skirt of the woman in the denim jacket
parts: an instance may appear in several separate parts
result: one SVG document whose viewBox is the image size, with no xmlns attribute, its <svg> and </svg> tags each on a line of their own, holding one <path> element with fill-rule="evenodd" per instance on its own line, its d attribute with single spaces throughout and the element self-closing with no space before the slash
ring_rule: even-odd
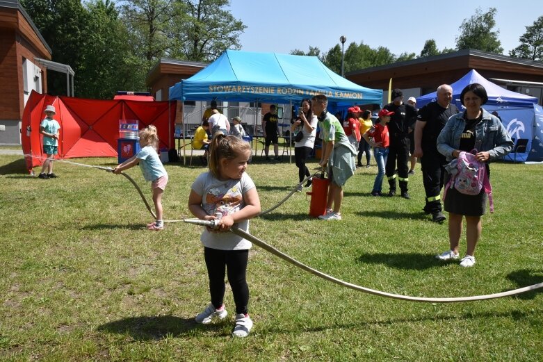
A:
<svg viewBox="0 0 543 362">
<path fill-rule="evenodd" d="M 448 184 L 451 175 L 445 177 L 445 185 Z M 454 187 L 448 188 L 444 199 L 444 208 L 448 213 L 455 213 L 464 216 L 482 216 L 487 209 L 487 194 L 481 190 L 479 195 L 464 195 Z"/>
</svg>

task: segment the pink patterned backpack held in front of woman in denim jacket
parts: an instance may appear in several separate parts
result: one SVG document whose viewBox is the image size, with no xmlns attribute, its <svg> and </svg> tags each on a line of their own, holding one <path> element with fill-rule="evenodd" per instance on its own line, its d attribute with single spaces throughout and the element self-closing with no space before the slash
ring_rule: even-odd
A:
<svg viewBox="0 0 543 362">
<path fill-rule="evenodd" d="M 490 186 L 488 179 L 487 168 L 484 162 L 477 160 L 476 153 L 476 149 L 471 152 L 461 151 L 458 158 L 451 162 L 451 167 L 448 167 L 451 179 L 445 186 L 443 199 L 446 197 L 447 189 L 452 187 L 464 195 L 479 195 L 481 190 L 484 189 L 488 195 L 490 212 L 494 213 L 492 186 Z"/>
</svg>

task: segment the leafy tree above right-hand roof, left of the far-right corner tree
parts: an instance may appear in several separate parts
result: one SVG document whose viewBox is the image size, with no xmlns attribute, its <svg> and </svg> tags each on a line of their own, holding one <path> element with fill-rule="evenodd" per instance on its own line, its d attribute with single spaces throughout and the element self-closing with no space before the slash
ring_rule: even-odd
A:
<svg viewBox="0 0 543 362">
<path fill-rule="evenodd" d="M 456 49 L 478 49 L 490 53 L 502 54 L 503 48 L 498 39 L 499 30 L 492 31 L 496 26 L 494 16 L 496 8 L 489 8 L 483 13 L 481 8 L 477 8 L 471 18 L 464 19 L 460 25 L 460 35 L 456 38 Z"/>
</svg>

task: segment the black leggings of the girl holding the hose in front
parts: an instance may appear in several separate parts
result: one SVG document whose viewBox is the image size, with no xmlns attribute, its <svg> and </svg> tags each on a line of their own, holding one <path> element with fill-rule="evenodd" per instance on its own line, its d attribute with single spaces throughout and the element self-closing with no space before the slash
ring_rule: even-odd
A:
<svg viewBox="0 0 543 362">
<path fill-rule="evenodd" d="M 225 297 L 225 269 L 234 295 L 236 314 L 247 314 L 249 286 L 245 279 L 249 250 L 218 250 L 204 247 L 211 303 L 220 308 Z"/>
</svg>

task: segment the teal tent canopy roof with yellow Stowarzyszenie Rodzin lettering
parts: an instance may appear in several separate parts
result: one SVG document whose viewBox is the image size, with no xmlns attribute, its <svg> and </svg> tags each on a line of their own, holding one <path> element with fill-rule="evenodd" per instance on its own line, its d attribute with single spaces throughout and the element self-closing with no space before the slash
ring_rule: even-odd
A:
<svg viewBox="0 0 543 362">
<path fill-rule="evenodd" d="M 382 90 L 362 87 L 328 69 L 316 56 L 227 50 L 174 86 L 170 100 L 259 101 L 296 104 L 325 94 L 335 106 L 378 104 Z"/>
</svg>

